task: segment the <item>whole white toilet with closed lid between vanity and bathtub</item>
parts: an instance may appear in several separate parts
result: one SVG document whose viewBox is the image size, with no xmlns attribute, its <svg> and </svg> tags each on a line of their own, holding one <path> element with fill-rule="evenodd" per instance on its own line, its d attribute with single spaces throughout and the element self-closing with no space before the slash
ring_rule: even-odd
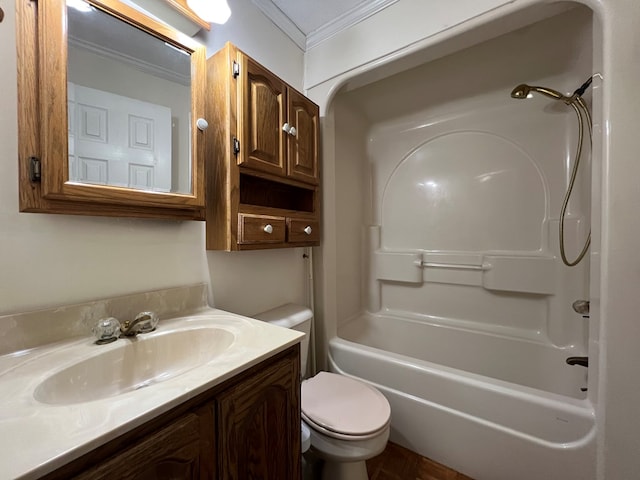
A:
<svg viewBox="0 0 640 480">
<path fill-rule="evenodd" d="M 289 303 L 255 318 L 305 333 L 300 342 L 300 372 L 304 376 L 311 310 Z M 302 381 L 300 403 L 302 451 L 310 444 L 316 456 L 324 460 L 322 478 L 367 480 L 366 460 L 380 454 L 389 439 L 391 407 L 384 395 L 353 378 L 319 372 Z"/>
</svg>

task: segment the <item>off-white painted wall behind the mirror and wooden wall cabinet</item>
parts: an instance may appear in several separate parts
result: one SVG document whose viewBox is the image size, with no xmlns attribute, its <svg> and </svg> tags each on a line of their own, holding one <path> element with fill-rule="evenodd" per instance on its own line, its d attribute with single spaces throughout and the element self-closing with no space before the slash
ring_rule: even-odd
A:
<svg viewBox="0 0 640 480">
<path fill-rule="evenodd" d="M 236 42 L 294 86 L 302 52 L 251 5 L 206 36 Z M 253 314 L 304 302 L 301 249 L 206 252 L 204 223 L 18 212 L 15 2 L 0 0 L 0 314 L 206 282 L 216 306 Z"/>
</svg>

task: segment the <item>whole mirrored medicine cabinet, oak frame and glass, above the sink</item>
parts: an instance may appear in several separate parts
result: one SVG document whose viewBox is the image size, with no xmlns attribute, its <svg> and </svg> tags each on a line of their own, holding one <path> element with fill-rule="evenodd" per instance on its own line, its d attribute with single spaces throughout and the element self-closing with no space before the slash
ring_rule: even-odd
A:
<svg viewBox="0 0 640 480">
<path fill-rule="evenodd" d="M 201 219 L 204 47 L 117 0 L 33 3 L 16 10 L 21 211 Z"/>
</svg>

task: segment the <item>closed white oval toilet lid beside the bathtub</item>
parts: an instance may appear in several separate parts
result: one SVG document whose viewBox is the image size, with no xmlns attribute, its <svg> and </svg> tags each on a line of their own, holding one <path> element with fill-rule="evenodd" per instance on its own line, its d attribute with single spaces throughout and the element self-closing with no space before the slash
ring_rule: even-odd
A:
<svg viewBox="0 0 640 480">
<path fill-rule="evenodd" d="M 336 433 L 367 435 L 389 422 L 391 407 L 378 390 L 357 380 L 320 372 L 302 382 L 302 413 Z"/>
</svg>

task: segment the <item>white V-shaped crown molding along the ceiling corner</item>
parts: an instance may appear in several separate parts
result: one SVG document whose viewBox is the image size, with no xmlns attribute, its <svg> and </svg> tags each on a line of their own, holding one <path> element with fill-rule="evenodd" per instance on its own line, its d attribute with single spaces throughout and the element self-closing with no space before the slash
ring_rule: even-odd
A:
<svg viewBox="0 0 640 480">
<path fill-rule="evenodd" d="M 285 35 L 305 52 L 337 33 L 375 15 L 397 1 L 398 0 L 372 0 L 363 2 L 305 36 L 296 24 L 271 0 L 252 0 L 253 4 L 258 7 L 276 27 L 282 30 Z"/>
</svg>

